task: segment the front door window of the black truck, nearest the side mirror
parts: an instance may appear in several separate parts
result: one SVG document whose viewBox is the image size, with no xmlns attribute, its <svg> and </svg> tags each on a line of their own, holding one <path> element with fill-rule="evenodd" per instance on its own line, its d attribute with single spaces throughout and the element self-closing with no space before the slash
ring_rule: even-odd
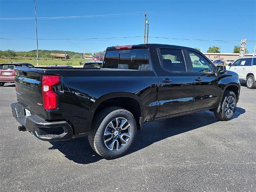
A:
<svg viewBox="0 0 256 192">
<path fill-rule="evenodd" d="M 200 54 L 188 51 L 194 72 L 212 72 L 211 64 Z"/>
</svg>

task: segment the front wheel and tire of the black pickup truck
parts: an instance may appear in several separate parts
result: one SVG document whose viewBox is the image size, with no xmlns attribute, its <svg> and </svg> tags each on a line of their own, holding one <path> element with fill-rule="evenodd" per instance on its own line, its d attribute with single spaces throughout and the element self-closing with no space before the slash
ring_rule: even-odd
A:
<svg viewBox="0 0 256 192">
<path fill-rule="evenodd" d="M 236 94 L 232 91 L 226 90 L 223 94 L 220 111 L 217 112 L 217 110 L 218 108 L 214 110 L 214 115 L 218 120 L 230 120 L 236 112 Z M 232 112 L 230 112 L 230 110 Z"/>
</svg>

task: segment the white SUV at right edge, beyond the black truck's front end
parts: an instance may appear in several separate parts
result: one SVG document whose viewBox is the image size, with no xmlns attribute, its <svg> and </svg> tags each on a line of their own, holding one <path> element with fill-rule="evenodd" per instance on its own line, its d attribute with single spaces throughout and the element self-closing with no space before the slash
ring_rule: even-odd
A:
<svg viewBox="0 0 256 192">
<path fill-rule="evenodd" d="M 228 70 L 236 72 L 239 80 L 246 82 L 247 88 L 256 88 L 256 56 L 242 57 L 228 65 Z"/>
</svg>

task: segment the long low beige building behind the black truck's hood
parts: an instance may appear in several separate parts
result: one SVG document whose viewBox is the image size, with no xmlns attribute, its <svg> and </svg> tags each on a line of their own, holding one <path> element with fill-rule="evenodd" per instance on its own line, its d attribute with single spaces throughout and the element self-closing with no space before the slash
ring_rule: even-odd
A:
<svg viewBox="0 0 256 192">
<path fill-rule="evenodd" d="M 239 53 L 204 53 L 206 57 L 208 57 L 211 60 L 237 60 L 239 59 Z M 244 54 L 244 56 L 252 56 L 251 53 Z"/>
</svg>

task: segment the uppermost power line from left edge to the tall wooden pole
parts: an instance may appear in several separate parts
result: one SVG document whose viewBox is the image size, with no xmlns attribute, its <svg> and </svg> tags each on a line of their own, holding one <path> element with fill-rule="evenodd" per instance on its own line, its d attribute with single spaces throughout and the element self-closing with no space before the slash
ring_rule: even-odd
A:
<svg viewBox="0 0 256 192">
<path fill-rule="evenodd" d="M 136 14 L 142 14 L 142 12 L 104 14 L 104 15 L 84 15 L 84 16 L 38 17 L 37 19 L 98 18 L 98 17 L 113 17 L 113 16 L 130 16 L 130 15 L 136 15 Z M 31 19 L 34 19 L 34 17 L 0 18 L 0 20 L 31 20 Z"/>
</svg>

